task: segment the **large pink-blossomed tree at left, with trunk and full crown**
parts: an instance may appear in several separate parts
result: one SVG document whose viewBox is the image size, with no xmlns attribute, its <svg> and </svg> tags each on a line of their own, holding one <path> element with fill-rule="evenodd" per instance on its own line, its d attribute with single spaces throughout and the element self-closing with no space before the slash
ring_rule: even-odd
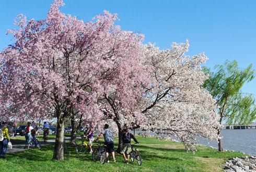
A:
<svg viewBox="0 0 256 172">
<path fill-rule="evenodd" d="M 54 159 L 58 160 L 64 158 L 65 119 L 83 114 L 83 121 L 95 126 L 108 110 L 99 100 L 111 101 L 117 85 L 118 96 L 126 97 L 120 104 L 127 112 L 126 107 L 134 105 L 133 97 L 141 93 L 124 90 L 143 82 L 138 78 L 143 73 L 142 35 L 122 31 L 114 25 L 117 15 L 108 11 L 83 22 L 61 13 L 61 5 L 61 0 L 54 1 L 44 20 L 27 21 L 19 15 L 18 30 L 8 31 L 15 43 L 0 54 L 3 116 L 56 117 Z"/>
</svg>

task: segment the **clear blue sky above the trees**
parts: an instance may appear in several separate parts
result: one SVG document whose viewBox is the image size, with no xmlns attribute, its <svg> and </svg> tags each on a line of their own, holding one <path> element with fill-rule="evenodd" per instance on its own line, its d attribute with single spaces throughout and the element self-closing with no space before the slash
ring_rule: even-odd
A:
<svg viewBox="0 0 256 172">
<path fill-rule="evenodd" d="M 0 50 L 11 43 L 7 29 L 13 29 L 18 14 L 28 19 L 44 19 L 52 1 L 0 1 Z M 123 30 L 140 32 L 145 43 L 161 49 L 172 42 L 190 41 L 189 55 L 204 52 L 213 67 L 226 59 L 238 61 L 241 68 L 256 69 L 256 1 L 83 1 L 64 0 L 61 10 L 84 21 L 104 9 L 117 13 Z M 256 95 L 256 79 L 244 85 L 243 92 Z"/>
</svg>

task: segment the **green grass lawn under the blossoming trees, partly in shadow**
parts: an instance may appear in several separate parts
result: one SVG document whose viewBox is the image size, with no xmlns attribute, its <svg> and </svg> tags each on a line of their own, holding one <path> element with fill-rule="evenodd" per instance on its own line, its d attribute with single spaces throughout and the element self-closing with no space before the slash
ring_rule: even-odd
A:
<svg viewBox="0 0 256 172">
<path fill-rule="evenodd" d="M 53 138 L 54 136 L 50 136 Z M 14 139 L 16 141 L 14 141 Z M 16 137 L 13 143 L 24 143 L 24 137 Z M 42 136 L 39 137 L 42 139 Z M 102 139 L 101 139 L 102 140 Z M 136 148 L 143 159 L 142 166 L 124 164 L 123 157 L 116 154 L 117 163 L 93 162 L 90 154 L 77 155 L 74 148 L 69 147 L 68 161 L 51 161 L 53 144 L 44 146 L 42 151 L 30 149 L 15 154 L 7 154 L 0 159 L 1 171 L 223 171 L 220 165 L 231 157 L 245 156 L 238 152 L 218 152 L 198 146 L 195 154 L 187 153 L 182 143 L 142 138 Z M 117 139 L 115 139 L 117 143 Z M 117 144 L 115 144 L 117 148 Z M 112 158 L 110 158 L 112 160 Z"/>
</svg>

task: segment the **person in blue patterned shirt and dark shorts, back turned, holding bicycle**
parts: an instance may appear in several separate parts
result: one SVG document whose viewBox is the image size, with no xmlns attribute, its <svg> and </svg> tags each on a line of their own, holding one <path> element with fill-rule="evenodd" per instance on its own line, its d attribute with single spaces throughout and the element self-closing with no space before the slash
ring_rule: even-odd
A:
<svg viewBox="0 0 256 172">
<path fill-rule="evenodd" d="M 104 144 L 106 147 L 106 162 L 109 163 L 109 153 L 113 156 L 113 163 L 115 163 L 115 157 L 114 157 L 114 142 L 113 142 L 113 134 L 112 131 L 109 129 L 109 125 L 105 124 L 104 130 L 99 134 L 98 138 L 95 140 L 96 142 L 104 137 Z"/>
</svg>

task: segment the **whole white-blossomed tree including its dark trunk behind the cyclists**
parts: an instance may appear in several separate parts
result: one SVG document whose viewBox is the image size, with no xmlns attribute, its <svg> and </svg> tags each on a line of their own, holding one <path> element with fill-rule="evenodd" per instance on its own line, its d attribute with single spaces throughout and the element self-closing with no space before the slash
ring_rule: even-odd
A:
<svg viewBox="0 0 256 172">
<path fill-rule="evenodd" d="M 122 79 L 121 84 L 108 85 L 111 90 L 102 99 L 102 102 L 107 102 L 104 117 L 117 124 L 118 151 L 122 148 L 124 126 L 174 136 L 192 151 L 196 136 L 210 140 L 218 138 L 220 125 L 214 112 L 216 101 L 201 87 L 207 76 L 200 65 L 207 58 L 204 54 L 185 55 L 188 47 L 188 41 L 184 44 L 173 43 L 171 50 L 159 50 L 153 44 L 145 45 L 145 57 L 141 59 L 141 70 L 144 72 L 137 70 L 141 77 L 133 78 L 137 81 L 141 79 L 141 84 L 132 87 L 129 84 L 131 81 Z M 129 88 L 122 90 L 123 82 Z M 123 101 L 131 104 L 126 105 Z"/>
</svg>

